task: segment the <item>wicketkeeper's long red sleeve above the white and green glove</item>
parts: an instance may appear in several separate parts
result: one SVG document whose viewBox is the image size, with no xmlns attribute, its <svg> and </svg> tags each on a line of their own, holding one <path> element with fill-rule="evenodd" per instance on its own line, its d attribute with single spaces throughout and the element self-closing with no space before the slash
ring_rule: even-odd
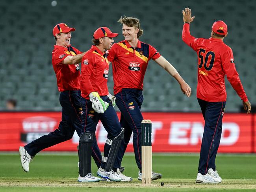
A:
<svg viewBox="0 0 256 192">
<path fill-rule="evenodd" d="M 93 92 L 93 86 L 91 84 L 91 75 L 93 74 L 94 69 L 94 58 L 89 57 L 87 54 L 83 55 L 82 64 L 81 64 L 81 92 L 86 97 L 89 97 L 89 94 Z"/>
</svg>

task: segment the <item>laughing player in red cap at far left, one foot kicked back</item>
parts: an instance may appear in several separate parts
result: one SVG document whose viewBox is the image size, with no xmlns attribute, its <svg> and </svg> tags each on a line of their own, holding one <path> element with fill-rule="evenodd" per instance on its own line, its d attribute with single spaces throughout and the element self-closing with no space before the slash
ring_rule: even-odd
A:
<svg viewBox="0 0 256 192">
<path fill-rule="evenodd" d="M 60 91 L 61 122 L 55 131 L 19 148 L 20 162 L 25 172 L 29 172 L 29 164 L 39 151 L 71 139 L 74 131 L 79 136 L 83 132 L 80 67 L 78 63 L 81 62 L 85 53 L 70 46 L 71 31 L 75 31 L 75 28 L 69 28 L 64 23 L 57 24 L 52 31 L 56 40 L 56 45 L 54 45 L 54 50 L 52 51 L 52 66 Z M 93 159 L 99 168 L 102 155 L 96 140 L 93 142 L 92 150 Z"/>
</svg>

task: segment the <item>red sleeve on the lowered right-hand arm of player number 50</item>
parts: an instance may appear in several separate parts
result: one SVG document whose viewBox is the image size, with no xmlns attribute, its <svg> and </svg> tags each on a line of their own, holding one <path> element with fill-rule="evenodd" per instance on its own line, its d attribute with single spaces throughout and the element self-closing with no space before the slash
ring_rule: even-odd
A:
<svg viewBox="0 0 256 192">
<path fill-rule="evenodd" d="M 226 52 L 223 52 L 223 54 L 221 55 L 221 63 L 227 79 L 232 85 L 233 89 L 236 90 L 237 94 L 239 95 L 241 100 L 243 100 L 243 102 L 247 102 L 248 98 L 245 94 L 245 90 L 243 89 L 243 85 L 236 71 L 234 56 L 230 47 L 228 47 Z"/>
</svg>

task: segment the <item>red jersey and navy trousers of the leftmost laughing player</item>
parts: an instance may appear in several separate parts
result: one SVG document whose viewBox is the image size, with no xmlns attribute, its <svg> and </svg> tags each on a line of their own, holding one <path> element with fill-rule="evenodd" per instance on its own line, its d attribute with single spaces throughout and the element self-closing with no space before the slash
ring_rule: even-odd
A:
<svg viewBox="0 0 256 192">
<path fill-rule="evenodd" d="M 69 46 L 68 48 L 54 45 L 52 51 L 52 66 L 56 73 L 57 85 L 60 91 L 59 102 L 62 107 L 61 122 L 58 129 L 44 135 L 31 143 L 25 149 L 31 156 L 35 156 L 39 151 L 69 140 L 73 137 L 74 131 L 80 136 L 82 131 L 82 105 L 80 91 L 80 67 L 76 65 L 63 64 L 68 55 L 81 54 L 78 49 Z M 95 141 L 93 143 L 93 159 L 98 168 L 101 163 L 101 153 Z"/>
</svg>

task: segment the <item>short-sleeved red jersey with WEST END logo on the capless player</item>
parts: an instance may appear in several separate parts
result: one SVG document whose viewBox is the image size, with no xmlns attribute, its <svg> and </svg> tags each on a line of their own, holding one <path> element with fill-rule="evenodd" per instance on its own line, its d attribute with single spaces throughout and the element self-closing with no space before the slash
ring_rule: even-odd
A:
<svg viewBox="0 0 256 192">
<path fill-rule="evenodd" d="M 153 46 L 141 41 L 135 49 L 126 40 L 115 43 L 108 54 L 113 68 L 114 94 L 123 88 L 142 90 L 148 61 L 160 56 Z"/>
</svg>

